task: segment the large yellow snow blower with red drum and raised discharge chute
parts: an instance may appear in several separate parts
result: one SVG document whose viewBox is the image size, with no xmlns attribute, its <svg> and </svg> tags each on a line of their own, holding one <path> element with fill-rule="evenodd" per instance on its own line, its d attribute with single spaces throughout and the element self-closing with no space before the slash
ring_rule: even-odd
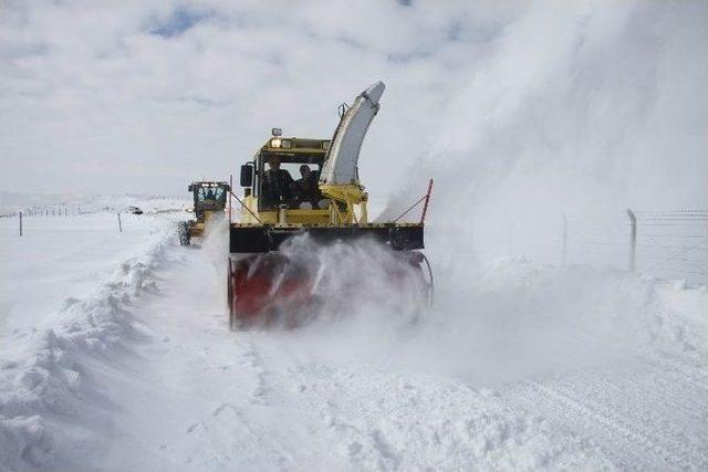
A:
<svg viewBox="0 0 708 472">
<path fill-rule="evenodd" d="M 398 261 L 387 269 L 395 286 L 405 277 L 429 303 L 433 273 L 425 255 L 424 221 L 433 180 L 408 210 L 423 203 L 417 222 L 369 222 L 368 196 L 358 179 L 358 156 L 368 126 L 379 109 L 384 83 L 360 94 L 352 106 L 340 106 L 340 123 L 331 139 L 272 137 L 240 169 L 243 197 L 229 192 L 228 306 L 231 329 L 282 324 L 299 326 L 303 312 L 316 311 L 322 294 L 321 268 L 288 255 L 283 248 L 295 238 L 316 245 L 376 241 Z M 290 169 L 290 171 L 288 170 Z M 296 172 L 295 180 L 292 172 Z M 231 222 L 231 197 L 240 203 L 239 222 Z M 353 281 L 351 284 L 355 285 Z M 362 294 L 358 294 L 360 300 Z M 363 296 L 366 296 L 364 294 Z M 395 296 L 395 294 L 391 294 Z"/>
</svg>

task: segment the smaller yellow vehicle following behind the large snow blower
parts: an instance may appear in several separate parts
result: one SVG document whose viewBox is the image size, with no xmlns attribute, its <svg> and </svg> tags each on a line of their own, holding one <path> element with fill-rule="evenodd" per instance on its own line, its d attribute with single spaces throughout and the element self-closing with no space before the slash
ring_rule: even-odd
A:
<svg viewBox="0 0 708 472">
<path fill-rule="evenodd" d="M 195 218 L 179 223 L 181 245 L 189 245 L 191 238 L 201 237 L 205 227 L 212 218 L 225 217 L 227 195 L 231 186 L 228 182 L 197 181 L 189 183 L 187 190 L 194 197 Z"/>
</svg>

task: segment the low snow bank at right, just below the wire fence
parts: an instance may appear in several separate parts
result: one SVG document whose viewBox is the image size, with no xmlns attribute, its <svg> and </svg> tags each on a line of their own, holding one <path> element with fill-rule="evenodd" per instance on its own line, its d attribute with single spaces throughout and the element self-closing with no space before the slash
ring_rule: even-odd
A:
<svg viewBox="0 0 708 472">
<path fill-rule="evenodd" d="M 667 352 L 708 353 L 706 285 L 587 265 L 540 268 L 523 259 L 501 261 L 480 285 L 482 296 L 516 293 L 530 315 L 563 313 L 569 323 L 594 325 L 591 333 L 604 338 Z"/>
</svg>

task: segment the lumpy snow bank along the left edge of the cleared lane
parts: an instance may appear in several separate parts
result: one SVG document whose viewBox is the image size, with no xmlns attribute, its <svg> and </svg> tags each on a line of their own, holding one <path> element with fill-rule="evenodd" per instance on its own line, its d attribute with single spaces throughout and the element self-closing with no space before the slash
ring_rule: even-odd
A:
<svg viewBox="0 0 708 472">
<path fill-rule="evenodd" d="M 83 453 L 101 448 L 110 431 L 101 386 L 87 366 L 111 363 L 126 343 L 148 338 L 128 307 L 155 290 L 174 230 L 164 222 L 144 253 L 119 264 L 84 300 L 66 298 L 49 329 L 15 329 L 3 339 L 0 365 L 0 469 L 81 469 Z M 100 430 L 103 434 L 96 434 Z"/>
</svg>

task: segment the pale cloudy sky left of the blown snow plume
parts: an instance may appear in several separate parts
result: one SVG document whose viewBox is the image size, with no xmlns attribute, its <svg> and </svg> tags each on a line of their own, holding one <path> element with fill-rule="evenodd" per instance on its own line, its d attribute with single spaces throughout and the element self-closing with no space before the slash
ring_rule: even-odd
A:
<svg viewBox="0 0 708 472">
<path fill-rule="evenodd" d="M 384 78 L 385 112 L 367 144 L 375 157 L 363 162 L 381 188 L 389 178 L 374 166 L 409 157 L 400 143 L 435 118 L 467 67 L 456 51 L 476 48 L 475 25 L 500 28 L 498 17 L 451 7 L 11 3 L 0 39 L 2 185 L 179 191 L 228 175 L 273 125 L 331 135 L 339 103 Z M 454 28 L 472 40 L 450 41 Z"/>
</svg>

